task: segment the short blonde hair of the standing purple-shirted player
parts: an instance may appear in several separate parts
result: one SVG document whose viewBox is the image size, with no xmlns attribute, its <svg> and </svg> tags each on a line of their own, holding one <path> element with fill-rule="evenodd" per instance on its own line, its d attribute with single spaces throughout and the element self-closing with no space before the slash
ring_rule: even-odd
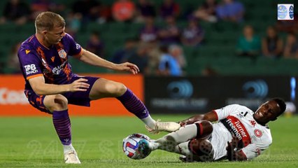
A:
<svg viewBox="0 0 298 168">
<path fill-rule="evenodd" d="M 35 19 L 36 31 L 52 30 L 54 27 L 65 27 L 65 20 L 61 15 L 52 12 L 43 12 Z"/>
</svg>

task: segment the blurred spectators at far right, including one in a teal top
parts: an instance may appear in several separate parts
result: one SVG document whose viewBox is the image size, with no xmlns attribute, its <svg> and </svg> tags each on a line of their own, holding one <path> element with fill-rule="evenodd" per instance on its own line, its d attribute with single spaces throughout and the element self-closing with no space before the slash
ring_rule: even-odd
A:
<svg viewBox="0 0 298 168">
<path fill-rule="evenodd" d="M 257 57 L 270 57 L 278 59 L 298 59 L 298 22 L 279 21 L 275 26 L 267 27 L 265 36 L 255 34 L 254 27 L 246 25 L 243 27 L 243 36 L 239 37 L 236 54 L 243 57 L 257 59 Z M 278 35 L 281 31 L 287 33 L 285 41 Z"/>
</svg>

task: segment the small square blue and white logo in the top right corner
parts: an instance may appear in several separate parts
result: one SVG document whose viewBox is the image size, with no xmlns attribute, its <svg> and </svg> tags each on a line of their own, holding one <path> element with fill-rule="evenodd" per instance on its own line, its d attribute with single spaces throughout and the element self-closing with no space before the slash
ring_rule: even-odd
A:
<svg viewBox="0 0 298 168">
<path fill-rule="evenodd" d="M 294 4 L 277 4 L 277 20 L 294 20 Z"/>
</svg>

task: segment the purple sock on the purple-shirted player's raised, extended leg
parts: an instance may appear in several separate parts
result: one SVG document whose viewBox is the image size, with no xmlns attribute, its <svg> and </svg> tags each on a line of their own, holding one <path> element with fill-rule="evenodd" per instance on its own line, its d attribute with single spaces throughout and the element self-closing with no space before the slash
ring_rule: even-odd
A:
<svg viewBox="0 0 298 168">
<path fill-rule="evenodd" d="M 138 118 L 143 119 L 148 117 L 149 112 L 146 109 L 146 106 L 141 102 L 141 100 L 134 95 L 132 90 L 129 90 L 127 88 L 125 94 L 123 94 L 120 97 L 117 97 L 117 99 L 125 106 L 125 108 L 136 115 Z"/>
</svg>

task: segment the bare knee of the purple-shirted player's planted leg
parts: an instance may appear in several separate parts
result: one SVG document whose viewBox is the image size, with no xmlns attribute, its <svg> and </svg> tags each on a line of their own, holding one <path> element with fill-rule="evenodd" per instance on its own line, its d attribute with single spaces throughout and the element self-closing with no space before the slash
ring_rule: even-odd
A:
<svg viewBox="0 0 298 168">
<path fill-rule="evenodd" d="M 44 104 L 50 111 L 62 111 L 67 109 L 68 100 L 61 94 L 48 95 L 44 99 Z"/>
</svg>

